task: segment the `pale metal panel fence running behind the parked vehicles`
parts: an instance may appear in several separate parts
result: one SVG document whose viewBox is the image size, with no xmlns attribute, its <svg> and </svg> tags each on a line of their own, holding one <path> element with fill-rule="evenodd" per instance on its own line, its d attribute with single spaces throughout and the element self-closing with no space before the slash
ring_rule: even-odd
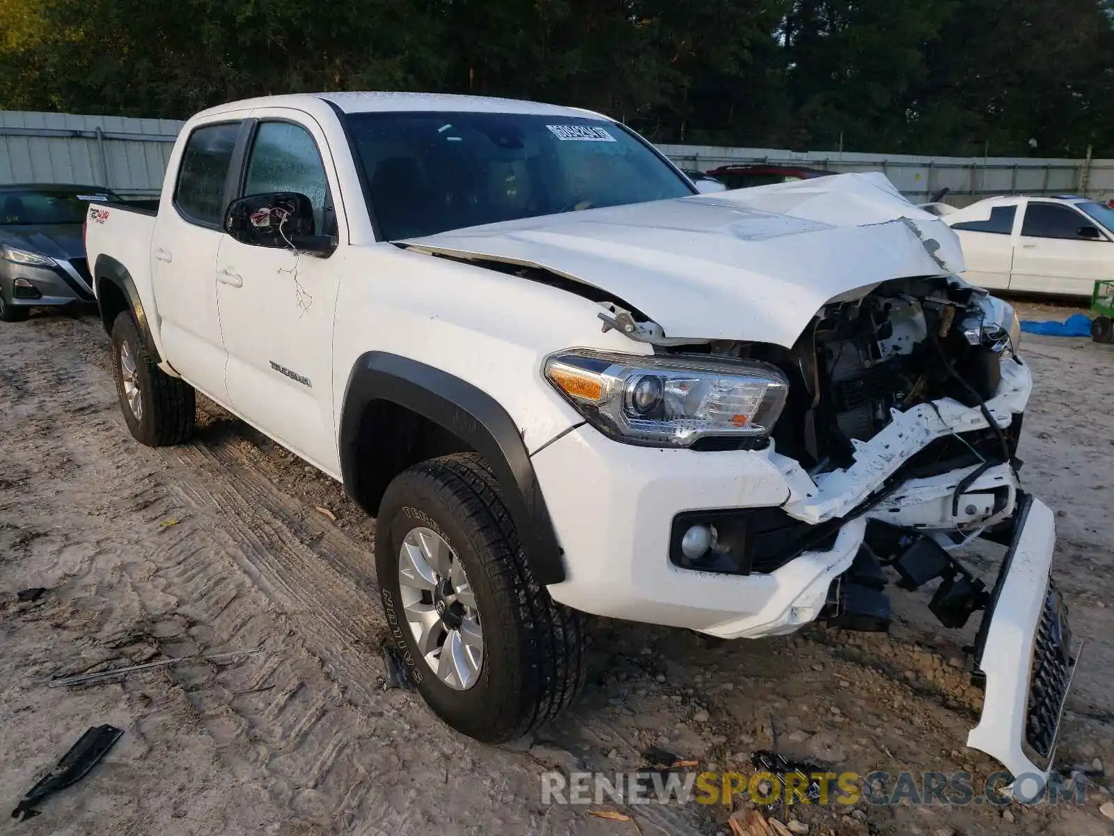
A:
<svg viewBox="0 0 1114 836">
<path fill-rule="evenodd" d="M 170 145 L 183 123 L 118 116 L 0 110 L 0 183 L 80 183 L 125 195 L 163 185 Z M 832 172 L 882 172 L 913 202 L 947 186 L 945 201 L 966 205 L 995 194 L 1114 197 L 1114 159 L 929 157 L 902 154 L 790 152 L 661 145 L 684 168 L 732 163 L 803 165 Z"/>
</svg>

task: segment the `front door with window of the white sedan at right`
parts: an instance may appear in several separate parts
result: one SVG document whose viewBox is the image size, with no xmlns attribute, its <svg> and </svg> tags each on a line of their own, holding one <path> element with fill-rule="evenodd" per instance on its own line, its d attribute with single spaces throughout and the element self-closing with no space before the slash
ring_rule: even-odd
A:
<svg viewBox="0 0 1114 836">
<path fill-rule="evenodd" d="M 1091 229 L 1094 232 L 1082 233 Z M 1073 206 L 1028 202 L 1014 254 L 1010 290 L 1089 297 L 1096 279 L 1114 274 L 1114 247 Z"/>
</svg>

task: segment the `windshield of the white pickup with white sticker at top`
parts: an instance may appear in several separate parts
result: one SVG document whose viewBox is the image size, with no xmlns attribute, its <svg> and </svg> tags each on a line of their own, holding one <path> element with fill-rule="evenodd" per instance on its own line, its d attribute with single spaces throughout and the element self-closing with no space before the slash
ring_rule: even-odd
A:
<svg viewBox="0 0 1114 836">
<path fill-rule="evenodd" d="M 416 111 L 348 123 L 388 241 L 693 194 L 653 149 L 603 119 Z"/>
</svg>

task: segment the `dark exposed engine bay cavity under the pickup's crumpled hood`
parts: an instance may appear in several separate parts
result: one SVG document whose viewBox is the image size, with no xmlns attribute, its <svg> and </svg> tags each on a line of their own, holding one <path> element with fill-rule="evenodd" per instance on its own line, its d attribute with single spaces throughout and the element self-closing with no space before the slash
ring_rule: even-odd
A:
<svg viewBox="0 0 1114 836">
<path fill-rule="evenodd" d="M 873 438 L 892 410 L 940 398 L 980 407 L 998 389 L 1015 330 L 1013 310 L 1000 300 L 954 278 L 932 276 L 886 282 L 858 299 L 828 303 L 791 350 L 726 341 L 706 350 L 765 360 L 789 377 L 790 401 L 774 441 L 815 474 L 848 466 L 856 444 Z M 964 458 L 970 448 L 990 445 L 999 461 L 1009 460 L 1016 427 L 995 429 L 941 445 L 938 456 Z"/>
</svg>

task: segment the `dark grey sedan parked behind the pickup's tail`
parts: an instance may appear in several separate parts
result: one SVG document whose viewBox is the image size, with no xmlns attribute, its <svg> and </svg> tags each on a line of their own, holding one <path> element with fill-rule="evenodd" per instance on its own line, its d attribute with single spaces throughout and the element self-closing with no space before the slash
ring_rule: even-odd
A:
<svg viewBox="0 0 1114 836">
<path fill-rule="evenodd" d="M 0 185 L 0 321 L 39 305 L 94 302 L 85 257 L 90 204 L 119 203 L 102 186 Z"/>
</svg>

